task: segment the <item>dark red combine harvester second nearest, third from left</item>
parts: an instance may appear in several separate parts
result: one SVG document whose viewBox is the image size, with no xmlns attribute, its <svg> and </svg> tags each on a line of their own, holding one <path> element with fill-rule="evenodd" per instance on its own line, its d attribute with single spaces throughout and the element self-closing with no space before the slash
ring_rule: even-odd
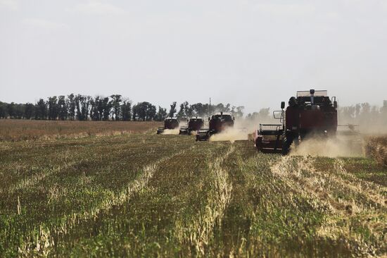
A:
<svg viewBox="0 0 387 258">
<path fill-rule="evenodd" d="M 208 118 L 209 128 L 198 130 L 196 133 L 196 141 L 209 140 L 211 135 L 220 133 L 224 129 L 234 127 L 234 116 L 228 112 L 219 112 Z"/>
</svg>

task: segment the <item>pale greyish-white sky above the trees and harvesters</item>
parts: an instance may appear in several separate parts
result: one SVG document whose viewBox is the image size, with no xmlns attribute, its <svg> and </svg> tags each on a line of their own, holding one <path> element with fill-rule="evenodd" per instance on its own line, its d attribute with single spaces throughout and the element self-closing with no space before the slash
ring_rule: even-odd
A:
<svg viewBox="0 0 387 258">
<path fill-rule="evenodd" d="M 387 0 L 0 0 L 0 101 L 387 99 Z"/>
</svg>

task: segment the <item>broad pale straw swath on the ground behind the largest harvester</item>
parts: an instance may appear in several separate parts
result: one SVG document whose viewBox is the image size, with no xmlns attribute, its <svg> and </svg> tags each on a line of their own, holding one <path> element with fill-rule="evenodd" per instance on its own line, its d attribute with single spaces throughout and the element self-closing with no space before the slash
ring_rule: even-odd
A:
<svg viewBox="0 0 387 258">
<path fill-rule="evenodd" d="M 348 180 L 343 180 L 332 173 L 316 171 L 312 165 L 312 161 L 307 157 L 303 159 L 292 159 L 292 157 L 283 157 L 278 164 L 272 166 L 272 172 L 282 178 L 291 188 L 302 193 L 317 198 L 319 203 L 328 204 L 333 216 L 328 216 L 325 223 L 317 230 L 317 234 L 323 238 L 331 240 L 339 240 L 344 238 L 348 242 L 348 248 L 357 248 L 357 252 L 369 254 L 378 250 L 376 241 L 374 245 L 367 245 L 364 239 L 360 238 L 351 230 L 351 218 L 355 216 L 368 216 L 373 218 L 376 210 L 383 211 L 385 205 L 381 203 L 379 198 L 372 199 L 372 195 L 366 190 L 362 190 L 360 185 L 353 185 Z M 335 165 L 341 174 L 348 172 L 339 164 Z M 383 187 L 381 187 L 383 189 Z M 345 197 L 345 195 L 349 195 Z M 361 196 L 362 198 L 350 199 L 351 195 Z M 380 204 L 375 206 L 375 203 Z M 371 205 L 370 205 L 371 204 Z M 371 208 L 371 209 L 370 209 Z M 340 227 L 337 226 L 338 221 L 341 221 Z M 369 228 L 375 239 L 382 238 L 381 230 L 372 231 L 372 225 L 363 225 Z M 350 246 L 352 243 L 353 246 Z"/>
</svg>

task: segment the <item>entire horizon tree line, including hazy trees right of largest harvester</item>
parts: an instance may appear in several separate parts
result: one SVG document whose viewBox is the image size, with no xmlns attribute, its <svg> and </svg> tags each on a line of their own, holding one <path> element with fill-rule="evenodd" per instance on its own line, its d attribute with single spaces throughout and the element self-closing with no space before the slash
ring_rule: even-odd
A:
<svg viewBox="0 0 387 258">
<path fill-rule="evenodd" d="M 189 104 L 183 102 L 179 106 L 172 102 L 169 109 L 149 102 L 132 101 L 120 94 L 109 97 L 82 94 L 69 94 L 67 96 L 53 96 L 39 99 L 35 104 L 16 104 L 14 102 L 0 102 L 0 118 L 35 119 L 35 120 L 71 120 L 71 121 L 163 121 L 167 117 L 177 118 L 193 116 L 209 116 L 215 111 L 229 111 L 236 118 L 243 117 L 244 106 L 231 106 L 231 104 Z M 247 119 L 254 121 L 267 121 L 272 118 L 269 108 L 260 109 L 258 112 L 248 113 Z M 338 119 L 342 123 L 386 123 L 387 101 L 381 108 L 368 103 L 353 106 L 340 106 Z"/>
</svg>

